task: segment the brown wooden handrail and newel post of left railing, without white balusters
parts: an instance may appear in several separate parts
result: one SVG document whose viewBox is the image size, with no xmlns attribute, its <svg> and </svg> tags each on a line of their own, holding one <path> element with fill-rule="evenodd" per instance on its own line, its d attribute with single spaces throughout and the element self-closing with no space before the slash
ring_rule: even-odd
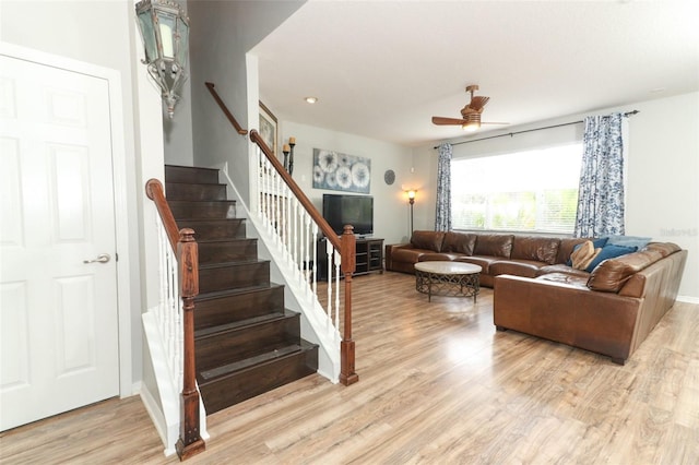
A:
<svg viewBox="0 0 699 465">
<path fill-rule="evenodd" d="M 180 436 L 175 449 L 180 461 L 183 461 L 206 449 L 200 436 L 199 391 L 194 363 L 194 297 L 199 295 L 199 246 L 194 240 L 193 229 L 177 230 L 177 223 L 165 199 L 163 183 L 157 179 L 150 179 L 145 183 L 145 192 L 155 203 L 178 263 L 178 287 L 182 299 L 185 367 L 180 403 Z"/>
</svg>

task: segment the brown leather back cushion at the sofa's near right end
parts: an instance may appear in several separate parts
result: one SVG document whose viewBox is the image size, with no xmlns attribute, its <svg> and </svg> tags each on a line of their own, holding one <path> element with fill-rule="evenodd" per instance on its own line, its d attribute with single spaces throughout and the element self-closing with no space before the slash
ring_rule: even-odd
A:
<svg viewBox="0 0 699 465">
<path fill-rule="evenodd" d="M 662 258 L 663 254 L 659 250 L 644 250 L 605 260 L 590 274 L 588 287 L 603 293 L 618 293 L 631 275 Z"/>
</svg>

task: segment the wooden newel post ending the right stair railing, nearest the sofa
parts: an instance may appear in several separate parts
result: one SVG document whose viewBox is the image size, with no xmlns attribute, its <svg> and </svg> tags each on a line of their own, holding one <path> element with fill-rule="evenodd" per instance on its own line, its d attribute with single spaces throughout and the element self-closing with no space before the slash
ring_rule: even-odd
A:
<svg viewBox="0 0 699 465">
<path fill-rule="evenodd" d="M 354 341 L 352 339 L 352 275 L 356 269 L 356 243 L 354 227 L 345 225 L 340 236 L 340 266 L 345 278 L 345 320 L 340 343 L 340 382 L 346 386 L 359 381 L 359 377 L 354 371 Z"/>
</svg>

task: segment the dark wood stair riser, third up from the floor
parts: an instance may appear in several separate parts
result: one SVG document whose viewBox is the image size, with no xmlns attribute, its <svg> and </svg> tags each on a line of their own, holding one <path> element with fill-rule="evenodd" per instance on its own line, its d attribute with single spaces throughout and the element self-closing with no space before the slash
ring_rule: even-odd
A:
<svg viewBox="0 0 699 465">
<path fill-rule="evenodd" d="M 194 327 L 216 326 L 284 311 L 284 287 L 270 287 L 196 302 Z"/>
</svg>

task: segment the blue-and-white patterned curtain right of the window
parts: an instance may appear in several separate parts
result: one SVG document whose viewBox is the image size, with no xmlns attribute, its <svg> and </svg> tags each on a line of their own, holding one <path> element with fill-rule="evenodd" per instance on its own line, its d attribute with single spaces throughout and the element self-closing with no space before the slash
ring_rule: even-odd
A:
<svg viewBox="0 0 699 465">
<path fill-rule="evenodd" d="M 624 234 L 621 114 L 585 118 L 574 237 Z"/>
</svg>

